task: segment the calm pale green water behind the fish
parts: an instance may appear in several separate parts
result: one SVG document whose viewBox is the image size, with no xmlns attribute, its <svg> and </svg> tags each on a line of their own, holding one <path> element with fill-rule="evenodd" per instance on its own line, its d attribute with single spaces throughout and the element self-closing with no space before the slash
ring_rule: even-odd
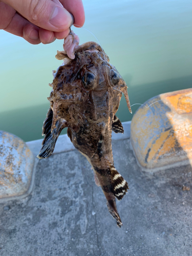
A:
<svg viewBox="0 0 192 256">
<path fill-rule="evenodd" d="M 192 87 L 192 2 L 83 1 L 84 27 L 98 38 L 129 87 L 131 104 L 164 92 Z M 96 41 L 85 29 L 74 29 L 80 44 Z M 61 61 L 62 40 L 33 46 L 0 31 L 0 130 L 25 141 L 41 137 L 52 82 Z M 132 107 L 133 113 L 138 105 Z M 122 97 L 121 121 L 131 120 Z"/>
</svg>

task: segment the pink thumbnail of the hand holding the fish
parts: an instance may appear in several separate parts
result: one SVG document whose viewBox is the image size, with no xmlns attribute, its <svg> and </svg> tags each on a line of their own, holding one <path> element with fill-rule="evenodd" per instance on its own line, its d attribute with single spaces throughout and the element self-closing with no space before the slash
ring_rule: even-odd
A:
<svg viewBox="0 0 192 256">
<path fill-rule="evenodd" d="M 56 6 L 53 9 L 49 22 L 56 28 L 67 29 L 72 23 L 72 18 L 65 8 Z"/>
</svg>

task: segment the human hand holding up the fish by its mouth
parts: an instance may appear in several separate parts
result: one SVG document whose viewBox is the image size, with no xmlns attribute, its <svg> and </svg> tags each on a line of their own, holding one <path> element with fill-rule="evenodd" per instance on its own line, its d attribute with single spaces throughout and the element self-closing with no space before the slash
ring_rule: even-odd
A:
<svg viewBox="0 0 192 256">
<path fill-rule="evenodd" d="M 30 44 L 48 44 L 69 34 L 74 26 L 84 24 L 81 0 L 2 0 L 0 1 L 0 29 L 23 37 Z"/>
</svg>

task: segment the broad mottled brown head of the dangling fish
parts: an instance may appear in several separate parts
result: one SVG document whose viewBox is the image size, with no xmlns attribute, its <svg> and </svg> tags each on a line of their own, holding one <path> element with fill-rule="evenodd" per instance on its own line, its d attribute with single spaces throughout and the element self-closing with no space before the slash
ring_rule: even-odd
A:
<svg viewBox="0 0 192 256">
<path fill-rule="evenodd" d="M 104 113 L 102 119 L 105 118 L 109 108 L 108 89 L 119 88 L 120 84 L 120 75 L 109 64 L 108 55 L 96 42 L 87 42 L 78 47 L 74 59 L 69 59 L 65 52 L 56 56 L 63 58 L 63 64 L 54 73 L 48 98 L 53 111 L 52 130 L 60 118 L 70 127 L 82 124 L 93 114 L 94 121 L 98 120 L 96 110 Z M 118 90 L 113 92 L 113 109 L 118 109 L 121 95 Z"/>
</svg>

